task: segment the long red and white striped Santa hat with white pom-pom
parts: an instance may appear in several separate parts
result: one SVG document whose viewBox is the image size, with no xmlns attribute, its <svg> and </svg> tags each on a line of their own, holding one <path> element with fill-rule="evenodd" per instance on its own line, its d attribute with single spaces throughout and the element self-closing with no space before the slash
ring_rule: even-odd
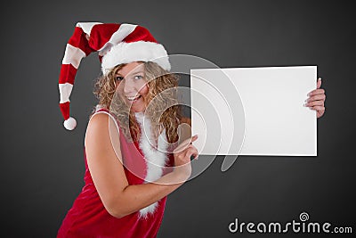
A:
<svg viewBox="0 0 356 238">
<path fill-rule="evenodd" d="M 59 79 L 60 108 L 64 127 L 77 126 L 69 116 L 69 96 L 80 61 L 89 53 L 98 52 L 103 74 L 121 63 L 156 62 L 164 70 L 171 70 L 163 45 L 158 44 L 148 29 L 133 24 L 78 22 L 66 46 Z"/>
</svg>

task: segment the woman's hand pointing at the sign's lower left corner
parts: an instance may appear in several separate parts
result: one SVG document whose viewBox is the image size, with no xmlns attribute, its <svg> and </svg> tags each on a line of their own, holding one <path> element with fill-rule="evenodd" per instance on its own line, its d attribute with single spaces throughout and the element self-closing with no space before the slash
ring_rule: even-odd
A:
<svg viewBox="0 0 356 238">
<path fill-rule="evenodd" d="M 198 139 L 198 135 L 186 139 L 174 149 L 174 173 L 182 177 L 182 182 L 187 180 L 191 174 L 190 158 L 198 157 L 198 150 L 192 144 Z"/>
</svg>

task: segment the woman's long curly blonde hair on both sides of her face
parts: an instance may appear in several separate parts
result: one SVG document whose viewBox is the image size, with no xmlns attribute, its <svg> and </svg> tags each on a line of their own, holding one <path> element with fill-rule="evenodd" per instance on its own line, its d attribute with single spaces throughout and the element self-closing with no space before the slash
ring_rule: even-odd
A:
<svg viewBox="0 0 356 238">
<path fill-rule="evenodd" d="M 153 135 L 157 140 L 158 135 L 166 129 L 168 143 L 175 144 L 178 141 L 177 127 L 182 119 L 182 107 L 178 103 L 176 92 L 179 77 L 163 70 L 155 62 L 142 63 L 149 86 L 145 115 L 150 118 Z M 93 93 L 99 99 L 99 104 L 117 118 L 126 139 L 137 142 L 140 138 L 140 126 L 134 111 L 130 111 L 129 106 L 116 92 L 117 71 L 125 65 L 119 64 L 108 74 L 101 76 L 95 83 Z"/>
</svg>

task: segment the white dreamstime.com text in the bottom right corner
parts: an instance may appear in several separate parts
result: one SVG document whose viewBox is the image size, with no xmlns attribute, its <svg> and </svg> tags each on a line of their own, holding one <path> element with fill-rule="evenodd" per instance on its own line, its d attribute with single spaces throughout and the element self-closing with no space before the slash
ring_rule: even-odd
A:
<svg viewBox="0 0 356 238">
<path fill-rule="evenodd" d="M 292 220 L 287 223 L 280 222 L 240 222 L 235 218 L 235 221 L 229 225 L 229 231 L 231 233 L 333 233 L 333 234 L 352 234 L 351 226 L 332 226 L 328 222 L 308 222 L 309 214 L 302 212 L 299 215 L 299 220 Z"/>
</svg>

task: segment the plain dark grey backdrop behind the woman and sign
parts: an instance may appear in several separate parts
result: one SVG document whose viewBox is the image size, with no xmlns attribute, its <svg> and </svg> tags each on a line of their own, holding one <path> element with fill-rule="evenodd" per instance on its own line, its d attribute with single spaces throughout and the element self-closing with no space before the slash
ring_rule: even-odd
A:
<svg viewBox="0 0 356 238">
<path fill-rule="evenodd" d="M 353 9 L 347 1 L 3 5 L 0 236 L 55 237 L 84 185 L 83 146 L 96 103 L 97 54 L 77 72 L 73 132 L 61 126 L 58 106 L 61 59 L 77 21 L 140 24 L 168 53 L 197 55 L 220 67 L 317 65 L 323 78 L 328 99 L 318 120 L 318 157 L 241 156 L 224 173 L 218 157 L 169 195 L 158 237 L 266 237 L 272 234 L 230 234 L 228 225 L 235 217 L 286 223 L 298 220 L 302 211 L 311 221 L 352 226 L 355 232 Z"/>
</svg>

